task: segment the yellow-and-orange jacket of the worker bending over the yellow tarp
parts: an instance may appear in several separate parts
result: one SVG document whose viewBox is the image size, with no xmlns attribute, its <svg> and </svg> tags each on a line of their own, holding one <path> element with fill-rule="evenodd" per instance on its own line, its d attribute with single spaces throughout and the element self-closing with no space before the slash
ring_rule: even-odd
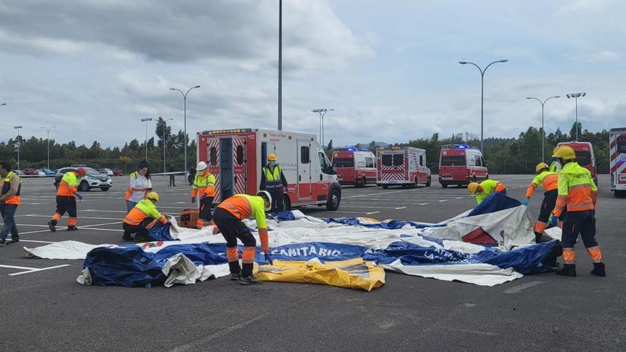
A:
<svg viewBox="0 0 626 352">
<path fill-rule="evenodd" d="M 248 194 L 235 194 L 235 196 L 220 203 L 218 208 L 228 210 L 229 213 L 235 215 L 235 218 L 240 220 L 248 218 L 257 220 L 261 249 L 264 251 L 270 249 L 267 223 L 265 222 L 265 201 L 263 201 L 263 198 Z"/>
</svg>

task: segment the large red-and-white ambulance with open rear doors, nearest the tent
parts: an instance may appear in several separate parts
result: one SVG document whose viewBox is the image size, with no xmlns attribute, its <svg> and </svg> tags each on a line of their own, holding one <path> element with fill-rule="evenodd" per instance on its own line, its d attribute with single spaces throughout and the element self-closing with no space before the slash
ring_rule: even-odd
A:
<svg viewBox="0 0 626 352">
<path fill-rule="evenodd" d="M 221 129 L 198 132 L 197 161 L 204 161 L 216 177 L 219 203 L 233 194 L 256 194 L 267 155 L 277 162 L 289 183 L 285 210 L 299 206 L 326 206 L 337 210 L 341 186 L 322 146 L 313 134 L 268 129 Z"/>
</svg>

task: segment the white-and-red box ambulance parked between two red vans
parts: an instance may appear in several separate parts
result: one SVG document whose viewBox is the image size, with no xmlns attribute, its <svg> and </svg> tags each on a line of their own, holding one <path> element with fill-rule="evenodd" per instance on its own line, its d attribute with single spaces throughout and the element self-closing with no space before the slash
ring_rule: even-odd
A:
<svg viewBox="0 0 626 352">
<path fill-rule="evenodd" d="M 430 186 L 430 168 L 426 151 L 412 146 L 393 146 L 376 150 L 376 183 L 415 188 L 418 183 Z"/>
</svg>

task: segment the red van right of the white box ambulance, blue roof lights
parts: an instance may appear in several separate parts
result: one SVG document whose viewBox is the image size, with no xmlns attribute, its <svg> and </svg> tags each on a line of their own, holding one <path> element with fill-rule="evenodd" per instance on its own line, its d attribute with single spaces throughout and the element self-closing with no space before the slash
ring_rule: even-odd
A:
<svg viewBox="0 0 626 352">
<path fill-rule="evenodd" d="M 439 183 L 443 188 L 447 188 L 448 185 L 467 185 L 487 178 L 489 169 L 480 149 L 465 144 L 441 146 Z"/>
</svg>

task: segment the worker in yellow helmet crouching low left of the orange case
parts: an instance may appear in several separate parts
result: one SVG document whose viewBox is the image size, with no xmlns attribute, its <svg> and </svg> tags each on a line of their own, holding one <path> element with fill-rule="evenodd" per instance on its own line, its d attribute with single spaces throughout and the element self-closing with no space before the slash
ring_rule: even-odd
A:
<svg viewBox="0 0 626 352">
<path fill-rule="evenodd" d="M 122 240 L 132 241 L 131 235 L 134 233 L 134 240 L 139 242 L 149 241 L 148 233 L 157 221 L 166 224 L 169 220 L 157 210 L 159 195 L 157 192 L 148 192 L 146 199 L 139 201 L 134 208 L 124 218 L 122 227 L 124 235 Z"/>
</svg>

